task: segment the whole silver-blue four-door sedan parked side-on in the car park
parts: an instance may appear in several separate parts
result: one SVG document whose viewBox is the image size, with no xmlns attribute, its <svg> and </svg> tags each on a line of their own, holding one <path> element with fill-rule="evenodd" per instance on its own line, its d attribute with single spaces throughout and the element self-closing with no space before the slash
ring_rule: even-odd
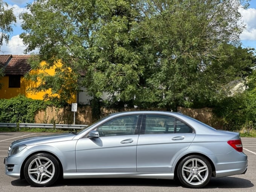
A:
<svg viewBox="0 0 256 192">
<path fill-rule="evenodd" d="M 6 174 L 32 186 L 68 178 L 177 178 L 201 188 L 211 177 L 244 174 L 238 133 L 219 131 L 180 113 L 115 113 L 79 133 L 21 139 L 5 158 Z"/>
</svg>

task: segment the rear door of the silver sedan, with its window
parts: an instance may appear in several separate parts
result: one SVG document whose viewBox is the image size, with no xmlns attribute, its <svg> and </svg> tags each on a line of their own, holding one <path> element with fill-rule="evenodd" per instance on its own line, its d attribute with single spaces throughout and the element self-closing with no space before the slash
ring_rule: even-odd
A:
<svg viewBox="0 0 256 192">
<path fill-rule="evenodd" d="M 194 130 L 175 117 L 145 114 L 137 145 L 137 171 L 171 172 L 172 162 L 194 137 Z"/>
</svg>

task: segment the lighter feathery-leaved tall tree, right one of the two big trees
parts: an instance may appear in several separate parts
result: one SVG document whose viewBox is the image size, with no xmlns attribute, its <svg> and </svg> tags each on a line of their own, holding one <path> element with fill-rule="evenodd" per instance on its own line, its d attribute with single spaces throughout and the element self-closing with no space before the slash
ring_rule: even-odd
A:
<svg viewBox="0 0 256 192">
<path fill-rule="evenodd" d="M 144 1 L 141 7 L 148 17 L 143 22 L 142 32 L 149 43 L 144 45 L 143 55 L 152 61 L 146 66 L 147 85 L 141 90 L 152 96 L 142 94 L 145 97 L 141 101 L 154 98 L 158 105 L 174 110 L 178 105 L 192 107 L 198 102 L 209 105 L 214 99 L 212 95 L 219 90 L 208 88 L 212 81 L 207 76 L 213 63 L 222 65 L 223 57 L 233 55 L 232 46 L 225 52 L 222 52 L 223 47 L 239 44 L 239 34 L 244 28 L 237 22 L 241 3 L 230 0 Z M 218 81 L 214 86 L 219 87 Z"/>
</svg>

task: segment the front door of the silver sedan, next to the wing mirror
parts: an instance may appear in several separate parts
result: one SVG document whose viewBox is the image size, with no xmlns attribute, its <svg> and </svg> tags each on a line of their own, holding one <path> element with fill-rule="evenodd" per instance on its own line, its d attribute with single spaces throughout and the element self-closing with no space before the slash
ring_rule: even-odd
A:
<svg viewBox="0 0 256 192">
<path fill-rule="evenodd" d="M 95 130 L 99 138 L 79 139 L 76 145 L 78 172 L 136 172 L 139 115 L 115 117 Z"/>
</svg>

